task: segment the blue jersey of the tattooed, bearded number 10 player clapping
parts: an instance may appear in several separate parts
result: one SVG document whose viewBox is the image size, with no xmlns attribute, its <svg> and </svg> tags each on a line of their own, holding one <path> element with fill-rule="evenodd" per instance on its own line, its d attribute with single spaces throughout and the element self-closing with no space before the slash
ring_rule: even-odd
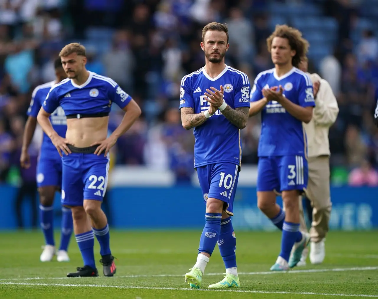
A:
<svg viewBox="0 0 378 299">
<path fill-rule="evenodd" d="M 248 76 L 232 67 L 226 66 L 216 78 L 211 78 L 204 68 L 181 80 L 180 109 L 191 107 L 194 113 L 208 110 L 210 104 L 205 100 L 206 89 L 223 86 L 223 98 L 233 109 L 249 107 L 250 84 Z M 242 144 L 240 130 L 228 121 L 220 110 L 195 127 L 194 167 L 207 164 L 231 162 L 240 165 Z"/>
</svg>

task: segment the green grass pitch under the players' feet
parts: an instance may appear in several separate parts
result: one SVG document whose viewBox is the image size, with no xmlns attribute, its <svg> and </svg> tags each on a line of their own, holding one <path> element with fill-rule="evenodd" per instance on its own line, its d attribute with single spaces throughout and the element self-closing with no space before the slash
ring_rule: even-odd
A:
<svg viewBox="0 0 378 299">
<path fill-rule="evenodd" d="M 184 282 L 197 256 L 201 231 L 115 231 L 110 242 L 117 273 L 98 278 L 67 278 L 82 266 L 74 238 L 70 262 L 39 261 L 42 232 L 0 233 L 0 298 L 378 298 L 378 231 L 330 232 L 322 265 L 270 272 L 280 251 L 279 232 L 236 232 L 241 288 L 209 290 L 225 273 L 218 248 L 206 267 L 200 290 Z M 56 241 L 59 246 L 59 232 Z"/>
</svg>

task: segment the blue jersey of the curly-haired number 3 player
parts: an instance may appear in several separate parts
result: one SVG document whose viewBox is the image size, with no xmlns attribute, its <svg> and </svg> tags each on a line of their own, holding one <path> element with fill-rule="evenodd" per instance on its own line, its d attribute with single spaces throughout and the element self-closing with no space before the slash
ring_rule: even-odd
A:
<svg viewBox="0 0 378 299">
<path fill-rule="evenodd" d="M 261 100 L 262 89 L 281 85 L 283 95 L 302 107 L 315 106 L 311 78 L 293 67 L 278 77 L 275 69 L 257 75 L 251 91 L 251 101 Z M 277 101 L 270 101 L 261 112 L 261 135 L 258 155 L 307 155 L 307 138 L 302 122 L 288 113 Z"/>
</svg>

